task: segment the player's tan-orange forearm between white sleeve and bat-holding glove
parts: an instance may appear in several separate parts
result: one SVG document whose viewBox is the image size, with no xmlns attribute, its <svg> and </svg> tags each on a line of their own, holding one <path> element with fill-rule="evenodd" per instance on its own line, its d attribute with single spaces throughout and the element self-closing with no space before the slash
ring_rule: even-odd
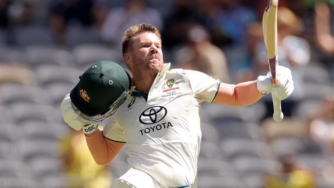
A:
<svg viewBox="0 0 334 188">
<path fill-rule="evenodd" d="M 214 103 L 229 106 L 247 106 L 261 99 L 256 88 L 256 81 L 239 83 L 237 85 L 221 83 Z"/>
</svg>

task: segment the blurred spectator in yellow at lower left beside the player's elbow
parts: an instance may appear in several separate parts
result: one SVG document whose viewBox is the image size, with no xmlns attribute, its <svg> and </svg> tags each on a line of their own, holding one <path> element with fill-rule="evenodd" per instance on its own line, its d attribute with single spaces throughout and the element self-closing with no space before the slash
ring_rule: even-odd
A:
<svg viewBox="0 0 334 188">
<path fill-rule="evenodd" d="M 82 130 L 71 130 L 61 140 L 62 156 L 68 187 L 100 188 L 112 184 L 112 174 L 106 165 L 98 165 L 92 158 Z"/>
</svg>

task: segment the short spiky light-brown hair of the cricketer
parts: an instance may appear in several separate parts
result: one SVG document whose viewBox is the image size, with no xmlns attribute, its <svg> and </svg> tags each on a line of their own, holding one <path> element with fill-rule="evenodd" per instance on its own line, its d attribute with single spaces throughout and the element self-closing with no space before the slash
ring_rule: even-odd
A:
<svg viewBox="0 0 334 188">
<path fill-rule="evenodd" d="M 138 34 L 145 33 L 145 32 L 151 32 L 158 36 L 160 42 L 161 42 L 161 34 L 159 29 L 151 24 L 148 23 L 141 23 L 138 25 L 133 25 L 129 27 L 122 38 L 122 53 L 128 52 L 129 46 L 131 42 L 133 41 L 134 37 L 136 37 Z"/>
</svg>

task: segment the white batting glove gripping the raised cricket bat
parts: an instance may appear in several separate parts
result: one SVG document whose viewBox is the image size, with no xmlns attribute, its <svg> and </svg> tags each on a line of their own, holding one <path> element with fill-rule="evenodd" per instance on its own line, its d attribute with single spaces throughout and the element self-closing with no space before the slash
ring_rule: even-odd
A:
<svg viewBox="0 0 334 188">
<path fill-rule="evenodd" d="M 276 84 L 273 85 L 271 73 L 268 72 L 266 76 L 257 77 L 256 87 L 263 95 L 270 92 L 280 100 L 284 100 L 288 98 L 294 90 L 291 70 L 284 66 L 277 66 Z"/>
</svg>

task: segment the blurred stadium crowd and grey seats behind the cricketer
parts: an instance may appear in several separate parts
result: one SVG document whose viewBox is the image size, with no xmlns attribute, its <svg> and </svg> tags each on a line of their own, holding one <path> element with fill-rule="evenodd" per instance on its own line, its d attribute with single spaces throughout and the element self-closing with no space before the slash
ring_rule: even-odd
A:
<svg viewBox="0 0 334 188">
<path fill-rule="evenodd" d="M 222 82 L 269 68 L 266 0 L 0 0 L 0 187 L 108 187 L 122 151 L 97 165 L 60 102 L 89 65 L 122 60 L 124 31 L 162 33 L 164 61 Z M 240 108 L 203 104 L 200 187 L 334 187 L 334 1 L 280 0 L 279 64 L 295 90 L 272 120 L 271 96 Z"/>
</svg>

